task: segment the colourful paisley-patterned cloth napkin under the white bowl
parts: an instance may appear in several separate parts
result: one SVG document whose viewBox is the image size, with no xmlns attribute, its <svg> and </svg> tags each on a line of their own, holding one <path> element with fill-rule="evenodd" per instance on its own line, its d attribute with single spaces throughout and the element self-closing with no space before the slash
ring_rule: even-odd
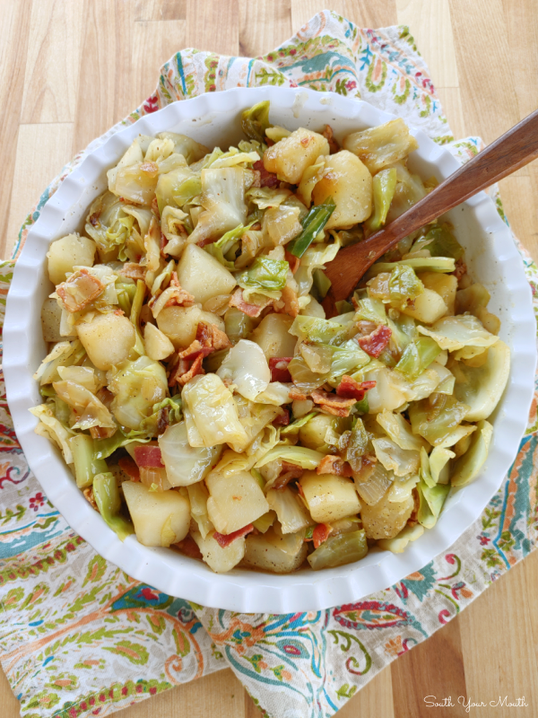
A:
<svg viewBox="0 0 538 718">
<path fill-rule="evenodd" d="M 45 190 L 13 256 L 65 175 L 110 134 L 172 101 L 237 86 L 331 90 L 395 112 L 461 161 L 406 27 L 362 30 L 319 13 L 265 57 L 178 52 L 157 91 L 95 140 Z M 499 197 L 494 197 L 505 219 Z M 529 282 L 538 270 L 519 248 Z M 0 318 L 13 261 L 0 267 Z M 535 304 L 538 307 L 538 304 Z M 230 667 L 267 716 L 321 718 L 390 661 L 455 617 L 538 540 L 536 402 L 519 454 L 479 521 L 446 554 L 368 599 L 282 616 L 205 609 L 134 581 L 78 537 L 48 502 L 22 454 L 0 383 L 0 651 L 25 718 L 110 714 Z"/>
</svg>

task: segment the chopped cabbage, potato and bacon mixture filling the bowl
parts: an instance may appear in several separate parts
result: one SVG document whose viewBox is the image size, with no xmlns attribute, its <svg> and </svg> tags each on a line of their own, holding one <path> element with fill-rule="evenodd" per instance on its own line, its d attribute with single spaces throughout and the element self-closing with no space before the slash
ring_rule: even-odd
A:
<svg viewBox="0 0 538 718">
<path fill-rule="evenodd" d="M 138 136 L 51 244 L 36 432 L 120 538 L 215 572 L 402 551 L 486 459 L 510 358 L 490 295 L 438 221 L 325 316 L 325 263 L 436 182 L 401 119 L 342 146 L 268 102 L 241 127 L 228 151 Z"/>
</svg>

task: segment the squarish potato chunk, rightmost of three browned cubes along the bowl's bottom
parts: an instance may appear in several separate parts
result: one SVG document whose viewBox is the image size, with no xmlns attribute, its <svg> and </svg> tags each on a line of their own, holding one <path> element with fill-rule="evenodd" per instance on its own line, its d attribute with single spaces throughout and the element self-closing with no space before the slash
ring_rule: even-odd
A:
<svg viewBox="0 0 538 718">
<path fill-rule="evenodd" d="M 305 471 L 300 486 L 308 510 L 318 523 L 330 523 L 360 511 L 360 501 L 350 478 Z"/>
</svg>

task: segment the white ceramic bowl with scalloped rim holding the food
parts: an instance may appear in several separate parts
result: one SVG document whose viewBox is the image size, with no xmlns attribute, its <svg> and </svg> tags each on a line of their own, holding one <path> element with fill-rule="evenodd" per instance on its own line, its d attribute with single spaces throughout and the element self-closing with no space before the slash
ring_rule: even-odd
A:
<svg viewBox="0 0 538 718">
<path fill-rule="evenodd" d="M 366 102 L 328 92 L 238 88 L 174 102 L 110 136 L 65 179 L 28 234 L 7 299 L 4 373 L 15 430 L 30 468 L 65 520 L 101 556 L 141 582 L 205 606 L 284 613 L 325 609 L 384 589 L 446 550 L 479 517 L 499 489 L 525 431 L 534 390 L 535 322 L 522 259 L 493 202 L 482 192 L 447 217 L 464 246 L 473 276 L 490 291 L 490 311 L 502 321 L 500 336 L 511 348 L 512 370 L 495 413 L 490 455 L 480 476 L 449 496 L 434 529 L 426 531 L 403 554 L 374 549 L 358 564 L 319 573 L 303 569 L 290 575 L 272 575 L 236 569 L 217 575 L 206 565 L 169 549 L 144 547 L 134 536 L 122 543 L 86 502 L 58 452 L 34 433 L 37 419 L 28 411 L 40 403 L 32 373 L 46 354 L 39 312 L 52 285 L 47 278 L 45 254 L 51 241 L 82 229 L 87 207 L 106 188 L 106 171 L 139 133 L 156 135 L 170 130 L 209 147 L 220 144 L 228 148 L 242 137 L 240 112 L 262 100 L 271 101 L 274 124 L 319 129 L 328 123 L 337 140 L 351 130 L 392 118 Z M 447 150 L 420 130 L 413 135 L 420 145 L 410 157 L 413 171 L 424 179 L 435 175 L 438 180 L 456 171 L 458 162 Z"/>
</svg>

